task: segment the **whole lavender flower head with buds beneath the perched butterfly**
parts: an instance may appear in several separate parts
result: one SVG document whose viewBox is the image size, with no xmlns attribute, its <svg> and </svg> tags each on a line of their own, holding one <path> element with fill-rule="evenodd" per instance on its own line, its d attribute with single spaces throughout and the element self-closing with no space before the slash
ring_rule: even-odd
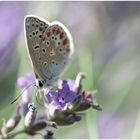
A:
<svg viewBox="0 0 140 140">
<path fill-rule="evenodd" d="M 93 103 L 92 92 L 84 92 L 82 80 L 83 73 L 79 73 L 75 80 L 60 80 L 57 90 L 50 90 L 46 95 L 46 116 L 48 120 L 57 125 L 70 125 L 81 120 L 79 111 L 92 107 L 101 110 L 99 105 Z"/>
</svg>

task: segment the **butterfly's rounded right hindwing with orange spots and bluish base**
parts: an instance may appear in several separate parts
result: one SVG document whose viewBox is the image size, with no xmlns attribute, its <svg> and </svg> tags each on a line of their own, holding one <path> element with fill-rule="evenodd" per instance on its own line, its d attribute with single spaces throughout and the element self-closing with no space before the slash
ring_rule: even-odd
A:
<svg viewBox="0 0 140 140">
<path fill-rule="evenodd" d="M 67 29 L 59 22 L 53 22 L 43 33 L 41 46 L 42 72 L 52 80 L 63 73 L 73 52 L 72 40 Z"/>
</svg>

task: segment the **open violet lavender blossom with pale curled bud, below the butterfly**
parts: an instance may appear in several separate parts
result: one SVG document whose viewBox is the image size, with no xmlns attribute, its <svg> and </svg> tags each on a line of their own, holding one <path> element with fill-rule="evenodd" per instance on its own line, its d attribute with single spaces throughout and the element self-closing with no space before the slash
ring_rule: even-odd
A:
<svg viewBox="0 0 140 140">
<path fill-rule="evenodd" d="M 51 99 L 50 106 L 52 110 L 61 109 L 67 110 L 70 103 L 73 103 L 81 93 L 81 82 L 85 79 L 83 73 L 79 73 L 76 80 L 60 80 L 57 91 L 50 91 L 47 98 Z"/>
</svg>

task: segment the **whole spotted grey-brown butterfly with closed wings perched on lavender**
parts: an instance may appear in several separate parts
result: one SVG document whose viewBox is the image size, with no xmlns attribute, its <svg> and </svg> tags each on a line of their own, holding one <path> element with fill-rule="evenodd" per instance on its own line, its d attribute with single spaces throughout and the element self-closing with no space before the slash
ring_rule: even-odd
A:
<svg viewBox="0 0 140 140">
<path fill-rule="evenodd" d="M 25 17 L 26 46 L 40 89 L 53 86 L 74 52 L 72 36 L 60 22 L 49 23 L 37 16 Z"/>
</svg>

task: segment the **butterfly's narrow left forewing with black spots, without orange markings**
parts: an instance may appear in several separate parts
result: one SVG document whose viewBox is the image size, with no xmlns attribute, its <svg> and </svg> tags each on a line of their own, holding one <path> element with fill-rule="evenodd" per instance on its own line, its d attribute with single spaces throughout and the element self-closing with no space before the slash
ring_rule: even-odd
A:
<svg viewBox="0 0 140 140">
<path fill-rule="evenodd" d="M 42 45 L 42 35 L 48 26 L 49 25 L 46 22 L 35 16 L 25 17 L 27 49 L 37 78 L 41 75 L 40 48 Z"/>
</svg>

